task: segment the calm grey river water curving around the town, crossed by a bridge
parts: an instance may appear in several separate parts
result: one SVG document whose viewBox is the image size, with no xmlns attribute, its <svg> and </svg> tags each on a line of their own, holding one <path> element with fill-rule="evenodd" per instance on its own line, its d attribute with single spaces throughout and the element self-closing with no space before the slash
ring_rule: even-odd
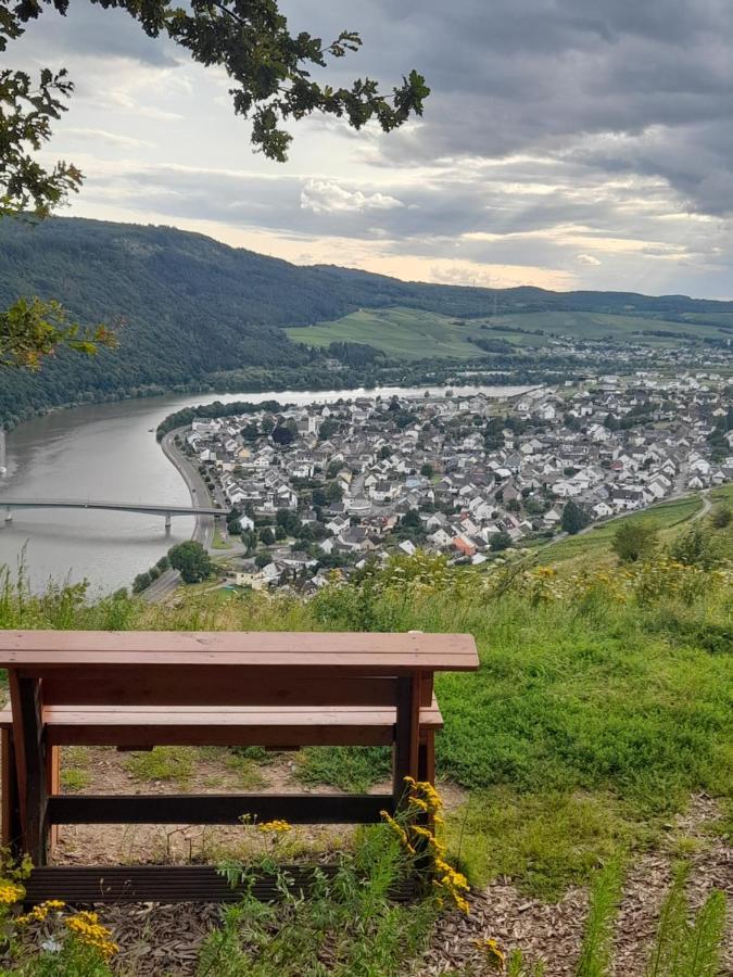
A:
<svg viewBox="0 0 733 977">
<path fill-rule="evenodd" d="M 427 389 L 431 393 L 444 390 Z M 482 392 L 490 396 L 527 390 L 451 389 L 456 394 Z M 190 505 L 182 479 L 155 440 L 155 428 L 174 410 L 213 401 L 311 404 L 378 394 L 420 396 L 425 390 L 187 394 L 74 407 L 27 421 L 7 437 L 7 472 L 0 473 L 0 564 L 14 572 L 22 561 L 34 589 L 45 586 L 49 579 L 86 579 L 92 594 L 110 593 L 129 585 L 168 547 L 190 538 L 192 517 L 175 518 L 167 535 L 162 517 L 138 512 L 16 509 L 12 522 L 3 521 L 3 496 Z"/>
</svg>

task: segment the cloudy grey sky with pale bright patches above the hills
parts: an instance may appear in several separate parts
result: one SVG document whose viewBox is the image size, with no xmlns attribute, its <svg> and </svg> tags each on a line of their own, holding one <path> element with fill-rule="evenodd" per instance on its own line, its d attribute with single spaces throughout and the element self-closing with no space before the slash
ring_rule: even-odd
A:
<svg viewBox="0 0 733 977">
<path fill-rule="evenodd" d="M 731 0 L 283 8 L 328 40 L 361 31 L 336 81 L 422 72 L 424 118 L 389 136 L 314 118 L 266 161 L 224 73 L 72 0 L 3 55 L 76 83 L 48 156 L 86 175 L 65 213 L 405 279 L 733 297 Z"/>
</svg>

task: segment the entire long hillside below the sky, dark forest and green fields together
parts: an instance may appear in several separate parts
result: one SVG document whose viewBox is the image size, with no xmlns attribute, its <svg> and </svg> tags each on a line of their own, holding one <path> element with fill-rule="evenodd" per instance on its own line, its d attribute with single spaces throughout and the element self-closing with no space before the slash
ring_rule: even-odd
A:
<svg viewBox="0 0 733 977">
<path fill-rule="evenodd" d="M 332 341 L 370 344 L 393 360 L 460 360 L 544 343 L 536 330 L 628 341 L 656 329 L 669 335 L 647 340 L 662 344 L 733 337 L 730 302 L 405 282 L 292 265 L 170 227 L 76 218 L 0 221 L 0 307 L 18 295 L 58 299 L 83 325 L 117 325 L 119 348 L 93 359 L 62 352 L 38 373 L 5 371 L 4 426 L 69 403 L 199 390 L 232 372 L 239 389 L 315 386 L 325 376 L 318 347 Z M 342 379 L 357 385 L 368 357 L 345 361 L 353 373 Z"/>
</svg>

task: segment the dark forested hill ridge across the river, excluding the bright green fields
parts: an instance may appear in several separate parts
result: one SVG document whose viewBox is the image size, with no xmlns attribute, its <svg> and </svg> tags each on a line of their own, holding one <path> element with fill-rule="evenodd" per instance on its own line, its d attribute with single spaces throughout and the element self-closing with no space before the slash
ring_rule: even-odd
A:
<svg viewBox="0 0 733 977">
<path fill-rule="evenodd" d="M 201 234 L 77 218 L 0 221 L 0 307 L 18 295 L 61 301 L 84 323 L 122 319 L 121 345 L 93 359 L 62 353 L 40 372 L 0 377 L 0 423 L 79 401 L 205 381 L 215 371 L 298 369 L 308 357 L 281 327 L 402 305 L 453 316 L 491 313 L 494 292 L 430 286 L 338 267 L 299 267 Z M 733 312 L 684 296 L 502 290 L 504 313 L 594 309 L 665 316 Z M 305 335 L 304 335 L 305 339 Z"/>
</svg>

